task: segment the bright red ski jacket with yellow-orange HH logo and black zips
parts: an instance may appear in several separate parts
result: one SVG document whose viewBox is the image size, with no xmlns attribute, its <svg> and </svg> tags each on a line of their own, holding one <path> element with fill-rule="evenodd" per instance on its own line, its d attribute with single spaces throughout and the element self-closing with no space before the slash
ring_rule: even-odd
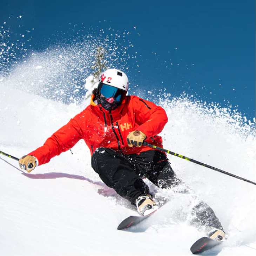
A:
<svg viewBox="0 0 256 256">
<path fill-rule="evenodd" d="M 93 100 L 94 95 L 85 110 L 50 136 L 42 147 L 29 153 L 38 159 L 39 165 L 48 163 L 81 139 L 89 147 L 91 155 L 100 147 L 122 154 L 139 154 L 150 150 L 147 146 L 128 146 L 127 135 L 134 130 L 143 132 L 148 143 L 162 147 L 162 137 L 157 134 L 168 121 L 162 107 L 137 96 L 126 96 L 121 106 L 109 112 Z"/>
</svg>

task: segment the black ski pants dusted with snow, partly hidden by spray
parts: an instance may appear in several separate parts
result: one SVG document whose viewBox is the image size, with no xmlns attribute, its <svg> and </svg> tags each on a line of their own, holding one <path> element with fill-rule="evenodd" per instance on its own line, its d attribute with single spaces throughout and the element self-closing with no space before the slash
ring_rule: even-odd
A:
<svg viewBox="0 0 256 256">
<path fill-rule="evenodd" d="M 149 188 L 142 178 L 147 177 L 163 189 L 177 187 L 183 182 L 178 179 L 165 154 L 148 150 L 140 154 L 123 155 L 109 148 L 98 148 L 92 155 L 92 168 L 101 180 L 117 194 L 135 205 L 141 195 L 149 194 Z M 190 193 L 184 189 L 181 193 Z M 200 201 L 193 207 L 192 224 L 221 228 L 213 209 Z"/>
</svg>

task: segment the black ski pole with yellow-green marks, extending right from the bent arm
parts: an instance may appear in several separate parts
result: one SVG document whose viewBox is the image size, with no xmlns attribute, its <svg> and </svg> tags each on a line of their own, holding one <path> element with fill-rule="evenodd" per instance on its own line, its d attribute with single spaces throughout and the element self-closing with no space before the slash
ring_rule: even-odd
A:
<svg viewBox="0 0 256 256">
<path fill-rule="evenodd" d="M 151 148 L 154 148 L 154 149 L 158 149 L 158 150 L 164 151 L 164 152 L 166 152 L 166 153 L 168 153 L 168 154 L 171 154 L 171 155 L 180 157 L 180 158 L 182 158 L 182 159 L 184 159 L 184 160 L 187 160 L 187 161 L 189 161 L 189 162 L 199 164 L 199 165 L 201 165 L 201 166 L 203 166 L 203 167 L 207 167 L 207 168 L 209 168 L 209 169 L 218 171 L 218 172 L 220 172 L 220 173 L 223 173 L 223 174 L 229 175 L 229 176 L 231 176 L 231 177 L 237 178 L 237 179 L 239 179 L 239 180 L 246 181 L 246 182 L 249 182 L 249 183 L 251 183 L 251 184 L 256 185 L 256 182 L 249 181 L 249 180 L 247 180 L 247 179 L 245 179 L 245 178 L 242 178 L 242 177 L 239 177 L 239 176 L 237 176 L 237 175 L 235 175 L 235 174 L 228 173 L 227 171 L 223 171 L 223 170 L 221 170 L 221 169 L 218 169 L 218 168 L 216 168 L 216 167 L 210 166 L 210 165 L 208 165 L 208 164 L 201 163 L 201 162 L 196 161 L 196 160 L 193 160 L 193 159 L 191 159 L 191 158 L 189 158 L 189 157 L 186 157 L 186 156 L 183 156 L 183 155 L 174 153 L 174 152 L 172 152 L 172 151 L 170 151 L 170 150 L 167 150 L 167 149 L 164 149 L 164 148 L 160 148 L 160 147 L 151 145 L 151 144 L 149 144 L 149 143 L 146 142 L 146 141 L 143 142 L 143 145 L 144 145 L 144 146 L 151 147 Z"/>
</svg>

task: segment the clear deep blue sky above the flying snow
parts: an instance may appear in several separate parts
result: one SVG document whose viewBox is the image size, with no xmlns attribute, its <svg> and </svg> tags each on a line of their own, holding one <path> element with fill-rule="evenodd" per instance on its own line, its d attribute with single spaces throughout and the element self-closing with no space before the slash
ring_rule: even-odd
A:
<svg viewBox="0 0 256 256">
<path fill-rule="evenodd" d="M 164 87 L 173 96 L 194 94 L 222 106 L 229 102 L 252 119 L 255 13 L 254 0 L 8 0 L 1 4 L 0 23 L 8 21 L 16 33 L 33 27 L 34 50 L 58 40 L 57 34 L 68 38 L 74 25 L 84 28 L 80 35 L 89 29 L 131 32 L 137 55 L 127 63 L 131 83 L 146 89 Z M 20 15 L 19 21 L 10 19 Z"/>
</svg>

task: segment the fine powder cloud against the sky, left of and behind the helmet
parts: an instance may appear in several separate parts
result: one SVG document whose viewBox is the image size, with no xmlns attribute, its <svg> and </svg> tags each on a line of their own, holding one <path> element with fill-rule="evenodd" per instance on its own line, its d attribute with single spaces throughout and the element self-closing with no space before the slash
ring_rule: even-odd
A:
<svg viewBox="0 0 256 256">
<path fill-rule="evenodd" d="M 58 40 L 50 42 L 50 46 L 42 43 L 43 50 L 17 47 L 9 43 L 8 29 L 1 32 L 0 60 L 7 63 L 1 65 L 0 82 L 47 99 L 72 103 L 81 102 L 85 97 L 86 79 L 93 72 L 98 47 L 105 49 L 109 68 L 128 71 L 127 60 L 136 57 L 135 52 L 129 53 L 133 47 L 127 40 L 129 34 L 120 36 L 121 32 L 113 32 L 113 29 L 101 30 L 97 35 L 92 30 L 86 35 L 79 31 L 80 35 L 76 33 L 68 39 L 61 39 L 57 33 Z"/>
</svg>

